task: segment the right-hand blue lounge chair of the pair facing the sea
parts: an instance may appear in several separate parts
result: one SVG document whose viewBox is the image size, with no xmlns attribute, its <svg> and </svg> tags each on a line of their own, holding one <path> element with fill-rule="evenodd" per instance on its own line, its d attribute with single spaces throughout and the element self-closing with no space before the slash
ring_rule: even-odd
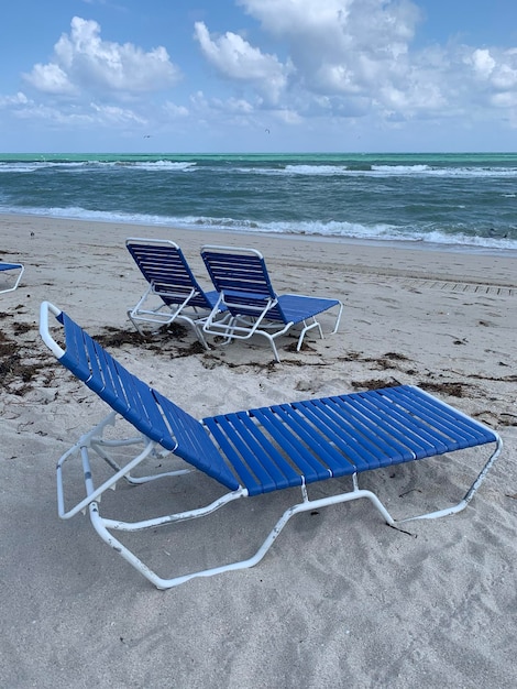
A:
<svg viewBox="0 0 517 689">
<path fill-rule="evenodd" d="M 201 256 L 208 269 L 219 302 L 204 322 L 205 332 L 222 336 L 223 342 L 246 340 L 262 335 L 270 340 L 276 361 L 279 361 L 275 338 L 294 326 L 301 326 L 297 351 L 306 333 L 317 328 L 323 337 L 316 316 L 337 309 L 332 332 L 337 332 L 343 305 L 338 299 L 310 297 L 299 294 L 278 296 L 273 288 L 263 255 L 254 249 L 206 245 Z M 219 318 L 219 309 L 228 310 Z"/>
</svg>

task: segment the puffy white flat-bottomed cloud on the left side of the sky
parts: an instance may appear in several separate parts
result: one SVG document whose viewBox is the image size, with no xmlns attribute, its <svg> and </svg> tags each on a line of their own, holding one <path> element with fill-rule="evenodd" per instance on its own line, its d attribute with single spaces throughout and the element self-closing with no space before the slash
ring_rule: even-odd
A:
<svg viewBox="0 0 517 689">
<path fill-rule="evenodd" d="M 132 43 L 103 41 L 96 21 L 74 17 L 70 33 L 54 46 L 53 61 L 24 76 L 46 94 L 128 97 L 167 88 L 180 73 L 164 47 L 144 52 Z"/>
</svg>

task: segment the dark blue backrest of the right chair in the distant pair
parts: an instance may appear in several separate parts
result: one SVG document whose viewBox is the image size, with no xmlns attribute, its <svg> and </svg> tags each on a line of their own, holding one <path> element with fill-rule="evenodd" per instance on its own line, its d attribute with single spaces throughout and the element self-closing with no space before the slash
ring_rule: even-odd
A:
<svg viewBox="0 0 517 689">
<path fill-rule="evenodd" d="M 205 245 L 201 256 L 213 286 L 232 315 L 255 316 L 268 302 L 267 318 L 284 320 L 264 256 L 255 249 Z"/>
</svg>

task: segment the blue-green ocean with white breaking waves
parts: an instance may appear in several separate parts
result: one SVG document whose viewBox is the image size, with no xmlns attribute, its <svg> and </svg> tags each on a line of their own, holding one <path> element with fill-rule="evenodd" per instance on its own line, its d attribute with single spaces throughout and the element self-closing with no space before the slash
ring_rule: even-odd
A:
<svg viewBox="0 0 517 689">
<path fill-rule="evenodd" d="M 0 212 L 517 250 L 517 153 L 0 154 Z"/>
</svg>

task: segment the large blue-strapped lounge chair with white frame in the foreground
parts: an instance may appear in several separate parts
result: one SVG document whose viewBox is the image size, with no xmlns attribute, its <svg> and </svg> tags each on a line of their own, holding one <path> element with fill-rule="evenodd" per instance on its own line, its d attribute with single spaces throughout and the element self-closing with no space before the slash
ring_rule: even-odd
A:
<svg viewBox="0 0 517 689">
<path fill-rule="evenodd" d="M 52 326 L 50 316 L 55 317 Z M 51 333 L 51 327 L 58 328 L 57 339 L 63 346 Z M 256 565 L 298 512 L 365 497 L 389 525 L 409 518 L 454 514 L 470 503 L 501 451 L 502 441 L 496 433 L 418 387 L 406 385 L 277 404 L 198 422 L 131 374 L 65 313 L 47 302 L 41 306 L 40 332 L 58 361 L 112 408 L 107 418 L 79 438 L 58 460 L 58 514 L 68 520 L 88 510 L 100 537 L 158 589 L 177 586 L 194 577 Z M 120 440 L 112 439 L 111 435 L 110 438 L 103 437 L 106 427 L 114 425 L 117 415 L 136 429 L 135 437 Z M 373 492 L 359 488 L 358 474 L 361 472 L 484 444 L 495 444 L 495 447 L 463 500 L 452 507 L 397 522 Z M 136 449 L 127 463 L 113 457 L 118 448 L 132 446 Z M 99 485 L 94 478 L 94 457 L 90 457 L 94 453 L 105 460 L 110 470 L 109 478 L 103 477 Z M 173 464 L 169 471 L 146 477 L 131 474 L 146 458 L 154 457 L 155 463 L 162 467 L 166 456 L 173 460 L 180 458 L 182 466 L 174 468 Z M 81 460 L 86 495 L 68 506 L 63 472 L 67 460 L 75 457 Z M 99 513 L 100 497 L 121 479 L 138 484 L 162 477 L 180 477 L 195 469 L 218 482 L 226 493 L 205 507 L 133 523 L 107 518 Z M 351 479 L 351 486 L 344 492 L 309 499 L 310 483 L 343 477 Z M 337 490 L 342 491 L 341 482 L 334 483 Z M 296 488 L 301 492 L 301 501 L 282 515 L 255 555 L 210 569 L 163 578 L 111 533 L 179 525 L 211 514 L 238 499 Z M 197 500 L 194 496 L 196 503 Z M 133 504 L 132 499 L 129 504 Z"/>
</svg>

